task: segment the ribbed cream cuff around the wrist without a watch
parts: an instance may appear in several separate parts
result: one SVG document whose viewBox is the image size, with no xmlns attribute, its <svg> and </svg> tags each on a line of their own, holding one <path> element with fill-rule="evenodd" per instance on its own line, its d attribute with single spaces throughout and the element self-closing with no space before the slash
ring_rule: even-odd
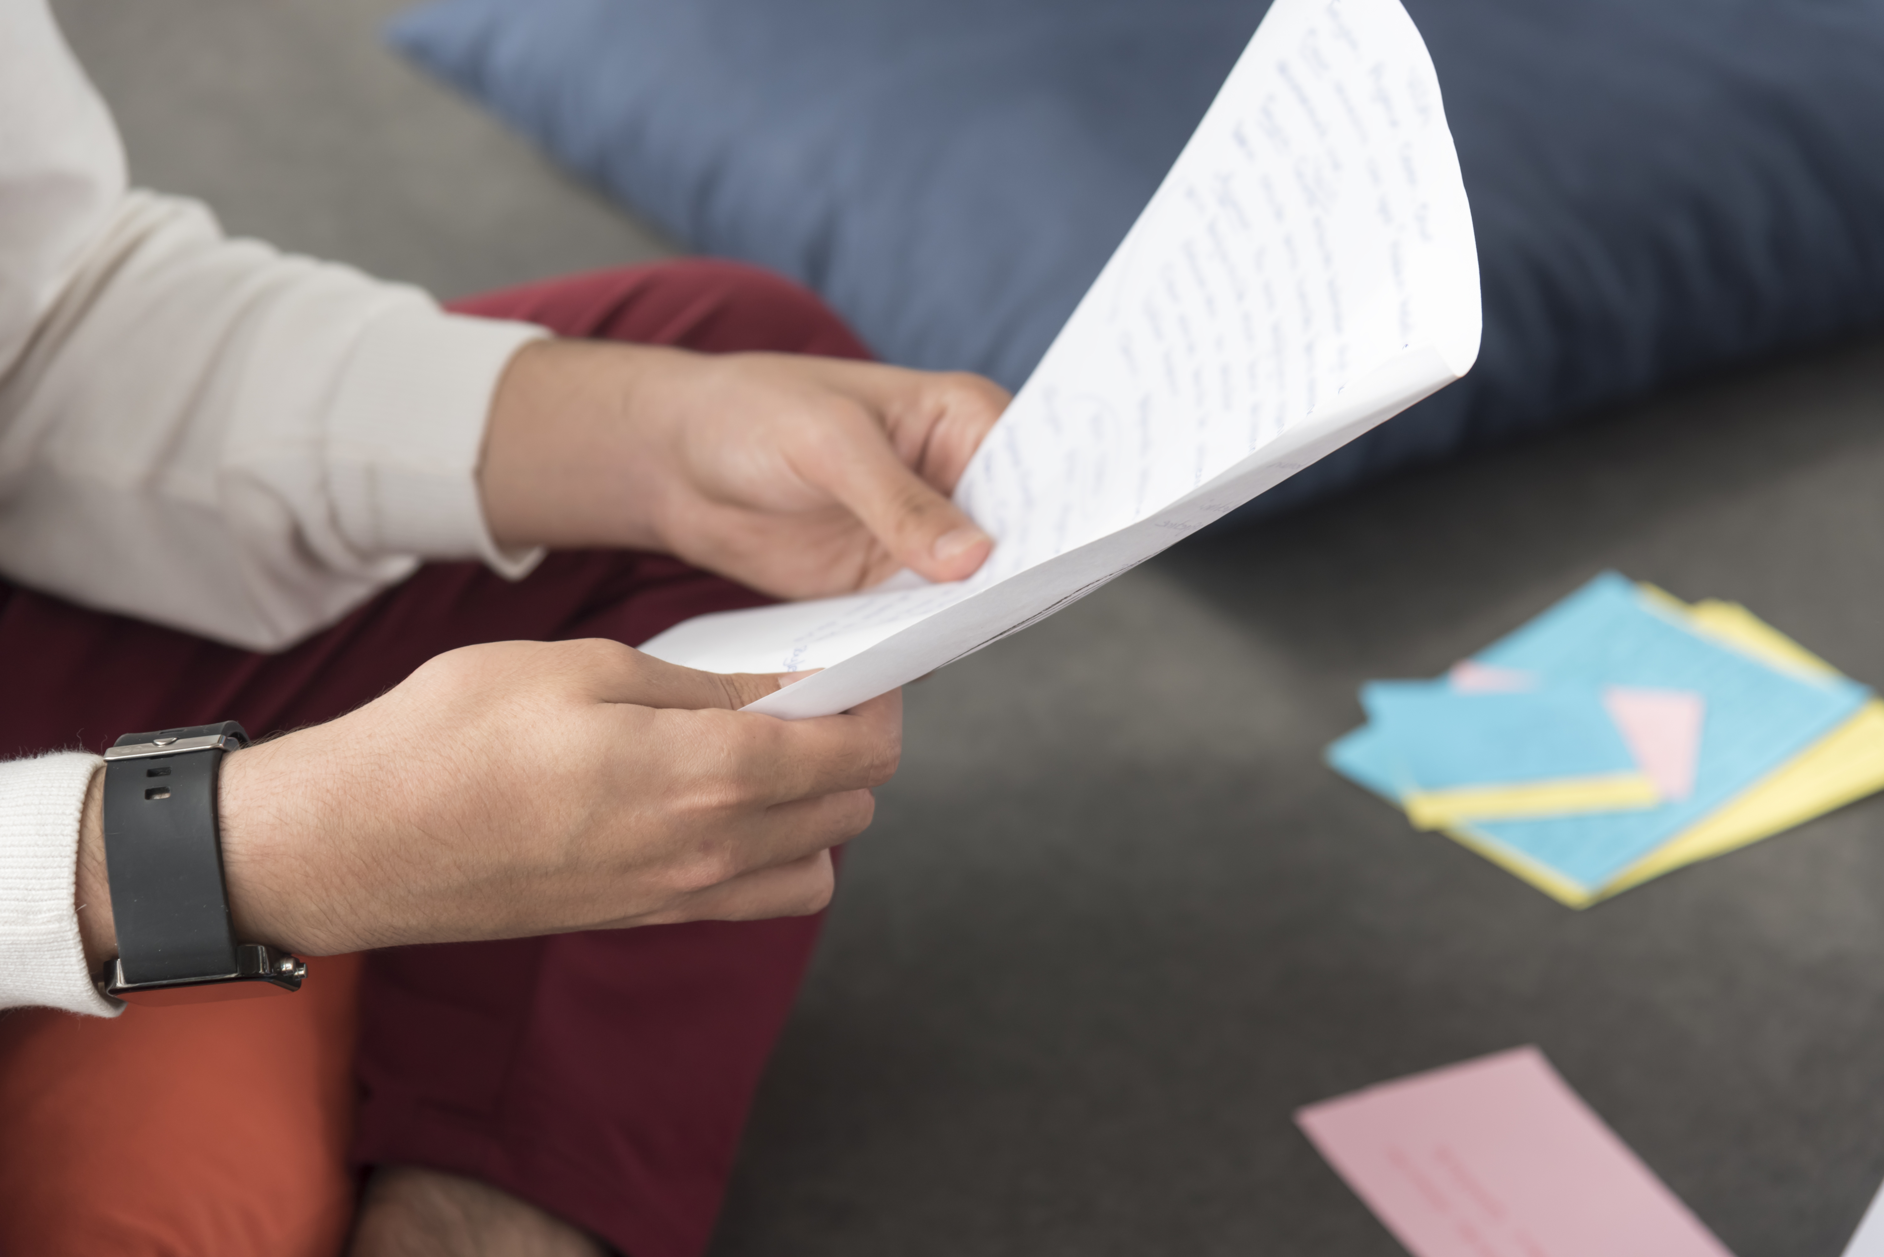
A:
<svg viewBox="0 0 1884 1257">
<path fill-rule="evenodd" d="M 328 412 L 328 485 L 341 534 L 364 553 L 482 559 L 522 580 L 543 549 L 501 549 L 477 470 L 492 397 L 543 327 L 405 305 L 360 333 Z"/>
</svg>

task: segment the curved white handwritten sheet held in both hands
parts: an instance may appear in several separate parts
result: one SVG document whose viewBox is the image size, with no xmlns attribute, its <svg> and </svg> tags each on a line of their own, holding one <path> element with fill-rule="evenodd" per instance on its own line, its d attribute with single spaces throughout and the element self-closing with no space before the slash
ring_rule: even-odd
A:
<svg viewBox="0 0 1884 1257">
<path fill-rule="evenodd" d="M 844 711 L 1085 597 L 1477 352 L 1471 209 L 1413 19 L 1398 0 L 1275 0 L 963 474 L 957 504 L 997 538 L 982 570 L 701 615 L 642 649 L 823 668 L 750 709 Z"/>
</svg>

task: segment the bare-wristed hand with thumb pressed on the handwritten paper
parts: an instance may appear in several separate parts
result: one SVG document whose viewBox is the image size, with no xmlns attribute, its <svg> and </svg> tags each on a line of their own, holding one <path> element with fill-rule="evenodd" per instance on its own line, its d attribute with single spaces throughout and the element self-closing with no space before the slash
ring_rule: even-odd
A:
<svg viewBox="0 0 1884 1257">
<path fill-rule="evenodd" d="M 546 341 L 511 361 L 480 485 L 507 546 L 661 549 L 786 598 L 970 576 L 948 499 L 1008 393 L 972 374 Z"/>
</svg>

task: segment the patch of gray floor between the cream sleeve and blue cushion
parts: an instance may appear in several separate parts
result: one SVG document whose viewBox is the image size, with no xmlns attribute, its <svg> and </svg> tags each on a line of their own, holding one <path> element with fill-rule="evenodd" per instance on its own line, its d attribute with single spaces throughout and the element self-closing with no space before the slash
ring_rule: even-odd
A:
<svg viewBox="0 0 1884 1257">
<path fill-rule="evenodd" d="M 441 297 L 673 252 L 379 47 L 398 0 L 58 0 L 132 177 Z"/>
</svg>

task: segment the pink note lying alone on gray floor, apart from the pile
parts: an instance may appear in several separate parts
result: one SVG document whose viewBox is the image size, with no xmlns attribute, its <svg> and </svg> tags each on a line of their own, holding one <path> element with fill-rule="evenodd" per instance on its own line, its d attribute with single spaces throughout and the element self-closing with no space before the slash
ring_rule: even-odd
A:
<svg viewBox="0 0 1884 1257">
<path fill-rule="evenodd" d="M 1731 1257 L 1537 1048 L 1296 1122 L 1415 1257 Z"/>
</svg>

